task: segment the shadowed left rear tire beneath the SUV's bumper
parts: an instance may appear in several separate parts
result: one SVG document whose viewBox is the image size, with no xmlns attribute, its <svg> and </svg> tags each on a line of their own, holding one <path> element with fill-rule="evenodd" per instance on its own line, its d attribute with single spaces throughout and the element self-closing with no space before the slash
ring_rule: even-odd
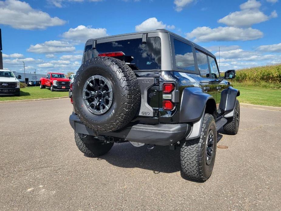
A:
<svg viewBox="0 0 281 211">
<path fill-rule="evenodd" d="M 89 157 L 106 154 L 114 144 L 113 142 L 105 143 L 93 136 L 81 133 L 74 133 L 74 138 L 78 149 Z"/>
</svg>

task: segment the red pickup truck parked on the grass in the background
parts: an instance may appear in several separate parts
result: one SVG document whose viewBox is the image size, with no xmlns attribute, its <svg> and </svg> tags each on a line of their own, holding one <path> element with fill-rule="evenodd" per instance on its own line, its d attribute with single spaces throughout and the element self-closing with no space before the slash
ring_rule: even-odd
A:
<svg viewBox="0 0 281 211">
<path fill-rule="evenodd" d="M 55 90 L 68 91 L 70 88 L 70 80 L 63 73 L 48 73 L 46 77 L 40 78 L 40 89 L 50 87 L 53 92 Z"/>
</svg>

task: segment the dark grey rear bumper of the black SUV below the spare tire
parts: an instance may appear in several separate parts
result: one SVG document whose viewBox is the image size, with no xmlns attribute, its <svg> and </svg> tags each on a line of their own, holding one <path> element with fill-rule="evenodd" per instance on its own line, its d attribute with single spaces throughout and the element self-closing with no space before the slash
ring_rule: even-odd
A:
<svg viewBox="0 0 281 211">
<path fill-rule="evenodd" d="M 140 142 L 145 144 L 155 145 L 170 145 L 183 140 L 190 134 L 192 129 L 190 124 L 157 124 L 144 125 L 136 124 L 128 126 L 118 132 L 94 132 L 81 122 L 76 114 L 71 114 L 69 117 L 71 127 L 76 133 L 82 133 L 91 136 L 111 136 L 122 138 L 128 141 Z"/>
</svg>

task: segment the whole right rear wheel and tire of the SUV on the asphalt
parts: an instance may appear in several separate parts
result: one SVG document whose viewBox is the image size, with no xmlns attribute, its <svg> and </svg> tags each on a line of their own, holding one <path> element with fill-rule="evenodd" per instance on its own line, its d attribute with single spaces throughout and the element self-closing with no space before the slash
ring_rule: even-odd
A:
<svg viewBox="0 0 281 211">
<path fill-rule="evenodd" d="M 216 150 L 216 123 L 211 114 L 205 114 L 200 137 L 186 140 L 181 146 L 180 163 L 184 177 L 206 181 L 214 168 Z"/>
</svg>

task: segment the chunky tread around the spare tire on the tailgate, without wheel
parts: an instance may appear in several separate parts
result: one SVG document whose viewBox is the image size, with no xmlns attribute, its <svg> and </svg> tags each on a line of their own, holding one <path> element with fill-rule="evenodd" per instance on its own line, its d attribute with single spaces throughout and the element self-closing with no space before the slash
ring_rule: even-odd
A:
<svg viewBox="0 0 281 211">
<path fill-rule="evenodd" d="M 91 128 L 94 131 L 112 132 L 115 130 L 122 129 L 132 121 L 132 119 L 135 117 L 136 112 L 139 109 L 141 95 L 140 95 L 140 89 L 139 89 L 137 77 L 135 73 L 132 71 L 132 69 L 127 64 L 125 64 L 125 62 L 119 59 L 113 57 L 94 57 L 86 61 L 84 64 L 82 64 L 81 67 L 76 72 L 73 87 L 72 87 L 73 89 L 75 89 L 75 86 L 77 85 L 76 78 L 80 74 L 83 74 L 83 70 L 91 64 L 103 64 L 107 67 L 111 67 L 111 70 L 115 72 L 117 78 L 121 82 L 120 83 L 122 88 L 121 101 L 123 102 L 123 104 L 120 110 L 122 112 L 117 113 L 115 115 L 117 118 L 115 120 L 112 120 L 111 122 L 108 122 L 108 124 L 93 125 L 90 122 L 88 122 L 87 119 L 83 118 L 79 110 L 76 109 L 75 98 L 73 98 L 74 109 L 78 114 L 79 118 L 81 119 L 81 121 L 88 128 Z"/>
</svg>

